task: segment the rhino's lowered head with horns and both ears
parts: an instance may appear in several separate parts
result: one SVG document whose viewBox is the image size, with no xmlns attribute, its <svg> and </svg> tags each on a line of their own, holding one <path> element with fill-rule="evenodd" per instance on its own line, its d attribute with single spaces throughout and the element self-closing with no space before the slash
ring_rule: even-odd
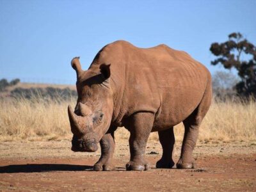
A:
<svg viewBox="0 0 256 192">
<path fill-rule="evenodd" d="M 109 88 L 110 65 L 91 65 L 84 71 L 79 58 L 71 65 L 77 73 L 77 104 L 73 111 L 68 106 L 72 138 L 72 150 L 95 152 L 105 134 L 113 114 L 113 97 Z"/>
</svg>

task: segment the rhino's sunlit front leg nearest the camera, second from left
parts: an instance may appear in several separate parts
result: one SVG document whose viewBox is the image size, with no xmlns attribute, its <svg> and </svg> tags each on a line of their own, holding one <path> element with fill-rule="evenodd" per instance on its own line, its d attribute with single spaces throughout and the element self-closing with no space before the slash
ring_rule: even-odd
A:
<svg viewBox="0 0 256 192">
<path fill-rule="evenodd" d="M 131 132 L 129 138 L 131 159 L 126 164 L 126 170 L 148 170 L 148 163 L 144 155 L 153 122 L 154 115 L 152 113 L 136 113 L 129 118 L 127 128 Z"/>
</svg>

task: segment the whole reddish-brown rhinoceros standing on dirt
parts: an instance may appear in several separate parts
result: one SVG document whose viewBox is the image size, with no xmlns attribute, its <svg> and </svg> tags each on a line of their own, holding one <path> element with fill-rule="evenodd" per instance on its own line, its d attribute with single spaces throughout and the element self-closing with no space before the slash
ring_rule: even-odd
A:
<svg viewBox="0 0 256 192">
<path fill-rule="evenodd" d="M 114 132 L 130 133 L 131 159 L 126 170 L 148 170 L 145 147 L 157 131 L 163 156 L 156 168 L 172 168 L 173 126 L 183 122 L 184 139 L 177 168 L 193 168 L 198 129 L 211 105 L 211 74 L 184 51 L 161 44 L 142 49 L 119 40 L 103 47 L 88 70 L 79 57 L 71 61 L 77 75 L 77 104 L 68 106 L 75 152 L 101 156 L 94 170 L 114 170 Z"/>
</svg>

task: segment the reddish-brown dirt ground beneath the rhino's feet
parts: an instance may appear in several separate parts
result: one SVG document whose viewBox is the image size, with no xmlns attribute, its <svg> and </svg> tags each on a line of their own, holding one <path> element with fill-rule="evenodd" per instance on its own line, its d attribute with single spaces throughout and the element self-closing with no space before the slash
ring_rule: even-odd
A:
<svg viewBox="0 0 256 192">
<path fill-rule="evenodd" d="M 161 146 L 147 145 L 147 172 L 126 172 L 128 143 L 117 143 L 115 172 L 93 172 L 100 152 L 74 153 L 70 141 L 0 143 L 1 191 L 256 191 L 254 143 L 198 144 L 193 170 L 156 169 Z M 180 143 L 175 147 L 179 159 Z"/>
</svg>

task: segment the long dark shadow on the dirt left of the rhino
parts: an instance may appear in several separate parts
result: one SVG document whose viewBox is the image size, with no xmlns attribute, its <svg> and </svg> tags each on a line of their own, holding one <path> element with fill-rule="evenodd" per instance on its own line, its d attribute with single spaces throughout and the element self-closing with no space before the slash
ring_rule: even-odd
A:
<svg viewBox="0 0 256 192">
<path fill-rule="evenodd" d="M 77 164 L 10 164 L 0 166 L 0 173 L 33 173 L 33 172 L 81 172 L 92 171 L 93 166 Z"/>
</svg>

